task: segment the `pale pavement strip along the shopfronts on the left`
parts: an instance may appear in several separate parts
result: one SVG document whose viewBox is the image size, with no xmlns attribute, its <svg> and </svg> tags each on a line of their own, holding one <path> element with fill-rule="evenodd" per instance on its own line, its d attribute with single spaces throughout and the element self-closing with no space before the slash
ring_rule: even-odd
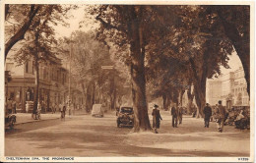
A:
<svg viewBox="0 0 256 163">
<path fill-rule="evenodd" d="M 86 113 L 85 110 L 75 110 L 75 112 L 72 113 L 72 116 L 86 115 L 86 114 L 88 114 L 88 113 Z M 16 124 L 15 125 L 60 119 L 60 112 L 55 112 L 54 114 L 52 114 L 51 112 L 48 112 L 45 114 L 41 113 L 40 120 L 32 119 L 32 113 L 17 113 L 15 115 L 16 115 Z M 68 113 L 66 113 L 66 116 L 68 116 Z"/>
</svg>

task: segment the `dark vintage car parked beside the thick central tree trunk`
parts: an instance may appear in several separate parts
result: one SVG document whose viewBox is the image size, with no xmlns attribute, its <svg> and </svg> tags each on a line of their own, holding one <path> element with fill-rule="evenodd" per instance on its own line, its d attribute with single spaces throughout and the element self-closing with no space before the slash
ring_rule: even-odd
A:
<svg viewBox="0 0 256 163">
<path fill-rule="evenodd" d="M 133 125 L 134 125 L 133 107 L 131 107 L 131 106 L 120 107 L 120 109 L 117 113 L 116 124 L 117 124 L 118 128 L 121 126 L 133 127 Z"/>
</svg>

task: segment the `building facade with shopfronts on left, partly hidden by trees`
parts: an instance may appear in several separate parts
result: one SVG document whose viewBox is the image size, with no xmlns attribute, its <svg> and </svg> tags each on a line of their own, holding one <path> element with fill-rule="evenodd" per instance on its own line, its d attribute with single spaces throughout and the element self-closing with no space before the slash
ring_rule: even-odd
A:
<svg viewBox="0 0 256 163">
<path fill-rule="evenodd" d="M 17 110 L 25 112 L 26 103 L 33 101 L 34 98 L 35 71 L 32 60 L 24 65 L 18 65 L 9 57 L 5 70 L 11 75 L 11 81 L 5 85 L 6 99 L 14 99 Z M 69 95 L 74 108 L 84 104 L 84 96 L 79 85 L 75 81 L 71 82 L 73 83 L 69 84 L 69 72 L 62 67 L 60 59 L 54 57 L 51 62 L 39 64 L 38 100 L 44 106 L 44 111 L 50 111 L 53 106 L 67 102 Z"/>
</svg>

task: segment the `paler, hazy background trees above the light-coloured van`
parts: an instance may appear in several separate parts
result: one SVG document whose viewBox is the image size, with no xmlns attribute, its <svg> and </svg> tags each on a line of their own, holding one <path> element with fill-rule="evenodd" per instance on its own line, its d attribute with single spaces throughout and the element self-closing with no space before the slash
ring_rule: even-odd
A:
<svg viewBox="0 0 256 163">
<path fill-rule="evenodd" d="M 60 57 L 72 67 L 72 81 L 82 84 L 87 110 L 91 110 L 95 103 L 115 109 L 118 99 L 127 93 L 123 83 L 129 78 L 115 66 L 117 61 L 111 59 L 109 48 L 96 40 L 94 31 L 77 30 L 59 42 L 62 45 Z M 112 68 L 106 70 L 104 66 Z"/>
</svg>

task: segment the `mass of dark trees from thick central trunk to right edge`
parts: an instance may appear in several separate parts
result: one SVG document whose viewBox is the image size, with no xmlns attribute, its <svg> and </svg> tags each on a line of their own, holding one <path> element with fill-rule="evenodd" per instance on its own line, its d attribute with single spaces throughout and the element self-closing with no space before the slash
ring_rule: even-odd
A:
<svg viewBox="0 0 256 163">
<path fill-rule="evenodd" d="M 135 132 L 151 130 L 147 82 L 164 105 L 180 102 L 185 89 L 192 98 L 193 85 L 200 116 L 206 80 L 219 75 L 221 66 L 228 68 L 234 50 L 249 93 L 249 12 L 249 6 L 102 5 L 91 10 L 101 25 L 98 39 L 129 49 Z"/>
</svg>

